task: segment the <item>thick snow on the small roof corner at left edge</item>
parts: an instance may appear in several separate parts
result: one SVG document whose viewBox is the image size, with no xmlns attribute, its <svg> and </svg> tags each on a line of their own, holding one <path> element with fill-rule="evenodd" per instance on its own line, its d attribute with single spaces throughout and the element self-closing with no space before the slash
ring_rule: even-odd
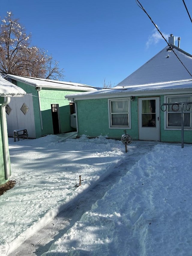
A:
<svg viewBox="0 0 192 256">
<path fill-rule="evenodd" d="M 23 89 L 0 76 L 0 97 L 16 97 L 25 94 L 26 92 Z"/>
</svg>

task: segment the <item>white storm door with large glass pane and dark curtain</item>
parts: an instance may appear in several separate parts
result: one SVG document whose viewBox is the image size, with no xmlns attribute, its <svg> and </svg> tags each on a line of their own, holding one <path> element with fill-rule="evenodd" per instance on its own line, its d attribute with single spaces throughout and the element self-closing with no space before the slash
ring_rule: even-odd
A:
<svg viewBox="0 0 192 256">
<path fill-rule="evenodd" d="M 139 98 L 139 139 L 159 140 L 159 98 Z"/>
</svg>

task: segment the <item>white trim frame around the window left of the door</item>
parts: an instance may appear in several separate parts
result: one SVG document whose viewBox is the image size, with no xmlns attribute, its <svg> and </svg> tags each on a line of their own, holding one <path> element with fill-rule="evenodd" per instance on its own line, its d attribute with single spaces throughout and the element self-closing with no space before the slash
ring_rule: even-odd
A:
<svg viewBox="0 0 192 256">
<path fill-rule="evenodd" d="M 111 101 L 128 101 L 128 124 L 129 126 L 111 126 Z M 131 97 L 126 98 L 110 98 L 108 99 L 108 115 L 109 115 L 109 129 L 131 129 Z"/>
</svg>

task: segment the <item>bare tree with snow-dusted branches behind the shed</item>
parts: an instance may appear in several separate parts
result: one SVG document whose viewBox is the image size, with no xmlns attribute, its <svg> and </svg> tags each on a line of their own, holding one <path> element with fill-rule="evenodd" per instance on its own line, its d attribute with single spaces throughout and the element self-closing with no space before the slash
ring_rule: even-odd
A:
<svg viewBox="0 0 192 256">
<path fill-rule="evenodd" d="M 0 73 L 57 80 L 64 77 L 63 72 L 52 55 L 31 46 L 31 34 L 7 12 L 0 27 Z"/>
</svg>

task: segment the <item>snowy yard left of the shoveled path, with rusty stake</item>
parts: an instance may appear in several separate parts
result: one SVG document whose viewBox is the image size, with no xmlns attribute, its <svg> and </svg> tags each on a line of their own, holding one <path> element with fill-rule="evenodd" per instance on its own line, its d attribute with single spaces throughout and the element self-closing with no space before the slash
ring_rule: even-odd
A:
<svg viewBox="0 0 192 256">
<path fill-rule="evenodd" d="M 13 189 L 0 197 L 0 251 L 9 253 L 104 179 L 126 156 L 120 141 L 9 138 Z M 81 175 L 82 185 L 79 185 Z"/>
</svg>

